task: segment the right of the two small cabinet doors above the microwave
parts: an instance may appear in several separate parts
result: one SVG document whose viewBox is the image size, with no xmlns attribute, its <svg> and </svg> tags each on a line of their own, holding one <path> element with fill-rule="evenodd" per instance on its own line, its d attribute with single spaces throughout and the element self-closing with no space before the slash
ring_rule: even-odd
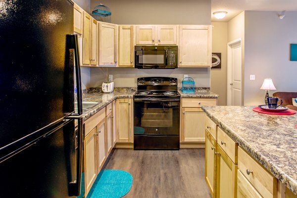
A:
<svg viewBox="0 0 297 198">
<path fill-rule="evenodd" d="M 157 38 L 156 43 L 162 44 L 176 44 L 177 38 L 177 26 L 176 25 L 158 25 L 157 26 Z"/>
</svg>

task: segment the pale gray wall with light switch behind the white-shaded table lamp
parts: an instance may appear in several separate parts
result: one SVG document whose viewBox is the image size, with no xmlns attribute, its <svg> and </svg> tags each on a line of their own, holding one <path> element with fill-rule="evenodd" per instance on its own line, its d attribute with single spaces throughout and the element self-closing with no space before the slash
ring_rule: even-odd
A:
<svg viewBox="0 0 297 198">
<path fill-rule="evenodd" d="M 290 61 L 290 43 L 297 43 L 297 12 L 285 15 L 281 20 L 274 11 L 246 11 L 245 105 L 264 103 L 265 90 L 259 88 L 265 78 L 273 80 L 276 91 L 297 92 L 297 62 Z"/>
</svg>

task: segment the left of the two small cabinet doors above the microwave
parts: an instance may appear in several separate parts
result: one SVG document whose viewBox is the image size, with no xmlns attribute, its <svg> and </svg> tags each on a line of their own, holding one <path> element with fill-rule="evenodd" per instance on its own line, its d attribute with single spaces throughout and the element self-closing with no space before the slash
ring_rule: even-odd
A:
<svg viewBox="0 0 297 198">
<path fill-rule="evenodd" d="M 154 25 L 136 26 L 136 44 L 155 44 L 155 34 Z"/>
</svg>

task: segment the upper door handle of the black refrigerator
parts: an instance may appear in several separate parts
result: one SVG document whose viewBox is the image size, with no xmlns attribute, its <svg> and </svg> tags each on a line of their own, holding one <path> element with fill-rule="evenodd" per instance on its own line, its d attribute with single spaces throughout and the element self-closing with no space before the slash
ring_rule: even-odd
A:
<svg viewBox="0 0 297 198">
<path fill-rule="evenodd" d="M 81 83 L 81 69 L 79 60 L 79 48 L 77 35 L 67 35 L 69 40 L 70 49 L 74 49 L 74 63 L 75 63 L 75 76 L 76 76 L 76 87 L 77 87 L 77 114 L 83 114 L 83 99 L 82 99 L 82 83 Z"/>
</svg>

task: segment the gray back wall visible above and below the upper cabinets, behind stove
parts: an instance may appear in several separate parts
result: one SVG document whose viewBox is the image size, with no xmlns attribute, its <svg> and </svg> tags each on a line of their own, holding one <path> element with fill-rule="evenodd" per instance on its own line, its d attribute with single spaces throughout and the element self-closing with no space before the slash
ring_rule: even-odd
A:
<svg viewBox="0 0 297 198">
<path fill-rule="evenodd" d="M 102 3 L 112 13 L 115 24 L 210 24 L 209 0 L 91 0 L 91 10 Z M 210 87 L 209 68 L 178 68 L 175 70 L 138 70 L 134 68 L 91 68 L 87 87 L 101 86 L 113 75 L 115 87 L 136 86 L 139 77 L 175 77 L 181 82 L 184 74 L 195 80 L 195 86 Z"/>
</svg>

